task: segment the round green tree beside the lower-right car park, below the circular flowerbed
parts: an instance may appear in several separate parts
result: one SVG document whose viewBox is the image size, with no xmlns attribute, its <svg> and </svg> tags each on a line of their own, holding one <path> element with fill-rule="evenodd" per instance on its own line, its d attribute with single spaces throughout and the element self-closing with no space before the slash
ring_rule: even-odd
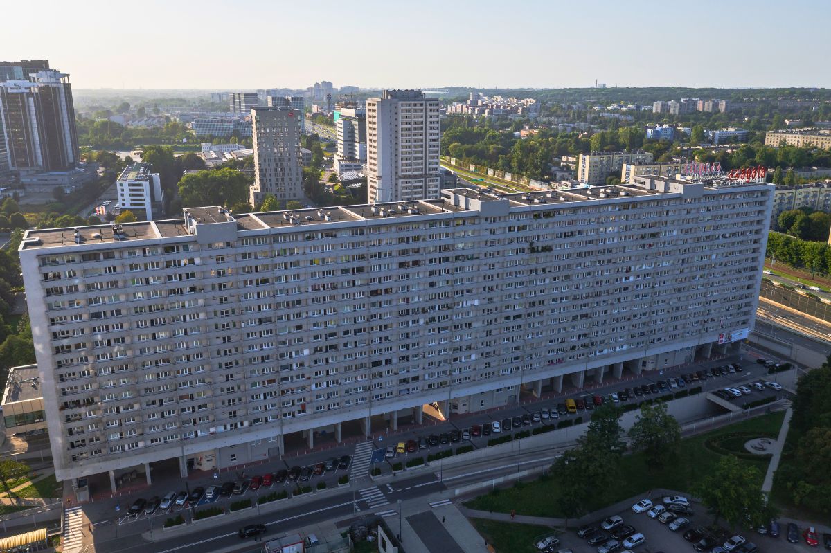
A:
<svg viewBox="0 0 831 553">
<path fill-rule="evenodd" d="M 713 515 L 713 523 L 755 528 L 770 520 L 767 498 L 762 492 L 762 473 L 734 455 L 720 458 L 715 471 L 696 486 L 695 493 Z"/>
</svg>

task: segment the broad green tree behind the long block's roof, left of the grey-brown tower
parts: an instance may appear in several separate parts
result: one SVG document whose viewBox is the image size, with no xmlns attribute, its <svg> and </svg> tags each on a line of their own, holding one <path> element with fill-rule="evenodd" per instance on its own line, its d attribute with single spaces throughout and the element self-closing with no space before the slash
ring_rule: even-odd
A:
<svg viewBox="0 0 831 553">
<path fill-rule="evenodd" d="M 185 208 L 233 206 L 248 201 L 249 185 L 248 176 L 234 169 L 199 171 L 179 180 L 179 196 Z"/>
</svg>

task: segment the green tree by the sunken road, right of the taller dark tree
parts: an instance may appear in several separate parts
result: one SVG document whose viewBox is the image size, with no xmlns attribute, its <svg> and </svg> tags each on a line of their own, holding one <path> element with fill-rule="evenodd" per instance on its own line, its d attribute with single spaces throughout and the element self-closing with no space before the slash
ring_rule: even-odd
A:
<svg viewBox="0 0 831 553">
<path fill-rule="evenodd" d="M 659 471 L 672 462 L 681 445 L 681 425 L 666 412 L 666 403 L 644 405 L 629 428 L 632 449 L 646 453 L 649 469 Z"/>
</svg>

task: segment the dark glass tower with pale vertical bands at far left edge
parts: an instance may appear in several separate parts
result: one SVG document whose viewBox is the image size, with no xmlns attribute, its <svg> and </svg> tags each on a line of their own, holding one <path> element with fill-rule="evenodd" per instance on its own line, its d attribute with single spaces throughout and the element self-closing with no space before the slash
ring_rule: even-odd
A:
<svg viewBox="0 0 831 553">
<path fill-rule="evenodd" d="M 78 163 L 69 75 L 39 71 L 30 81 L 0 83 L 0 130 L 7 166 L 17 171 L 64 171 Z"/>
</svg>

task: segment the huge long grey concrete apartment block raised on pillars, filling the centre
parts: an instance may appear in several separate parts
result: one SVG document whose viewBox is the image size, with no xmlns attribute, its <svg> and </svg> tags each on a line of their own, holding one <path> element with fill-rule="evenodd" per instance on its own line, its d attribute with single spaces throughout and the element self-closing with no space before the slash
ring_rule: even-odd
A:
<svg viewBox="0 0 831 553">
<path fill-rule="evenodd" d="M 288 433 L 725 349 L 754 324 L 773 188 L 655 176 L 28 231 L 57 477 L 227 467 Z"/>
</svg>

